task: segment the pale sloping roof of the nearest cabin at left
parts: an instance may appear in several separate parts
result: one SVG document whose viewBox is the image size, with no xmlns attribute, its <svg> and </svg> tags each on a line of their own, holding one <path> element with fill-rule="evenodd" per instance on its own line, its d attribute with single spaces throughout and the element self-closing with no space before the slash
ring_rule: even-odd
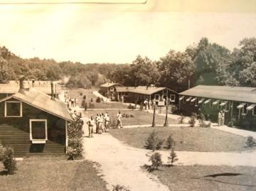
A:
<svg viewBox="0 0 256 191">
<path fill-rule="evenodd" d="M 30 89 L 29 91 L 24 90 L 23 93 L 17 92 L 10 97 L 1 99 L 0 102 L 4 102 L 11 98 L 18 99 L 21 102 L 46 111 L 54 116 L 58 116 L 61 119 L 73 121 L 70 113 L 68 112 L 67 106 L 63 102 L 60 102 L 58 99 L 52 100 L 50 96 L 42 92 L 38 92 L 36 89 Z"/>
</svg>

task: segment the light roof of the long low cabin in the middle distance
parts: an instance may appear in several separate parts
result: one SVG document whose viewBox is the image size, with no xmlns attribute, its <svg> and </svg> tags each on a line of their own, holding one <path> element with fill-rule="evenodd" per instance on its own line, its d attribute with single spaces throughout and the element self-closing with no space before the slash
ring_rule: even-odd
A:
<svg viewBox="0 0 256 191">
<path fill-rule="evenodd" d="M 156 92 L 160 92 L 164 89 L 169 89 L 167 87 L 146 87 L 146 86 L 138 86 L 138 87 L 116 87 L 117 92 L 132 92 L 136 94 L 146 94 L 151 95 Z M 169 89 L 171 92 L 175 92 L 174 90 Z M 176 93 L 176 92 L 175 92 Z"/>
</svg>

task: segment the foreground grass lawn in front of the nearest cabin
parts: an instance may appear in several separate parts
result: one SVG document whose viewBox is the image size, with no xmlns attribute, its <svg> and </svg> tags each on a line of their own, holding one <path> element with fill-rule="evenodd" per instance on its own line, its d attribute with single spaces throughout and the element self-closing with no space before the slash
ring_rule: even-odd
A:
<svg viewBox="0 0 256 191">
<path fill-rule="evenodd" d="M 16 174 L 0 175 L 0 190 L 107 190 L 93 165 L 87 160 L 28 158 L 17 162 Z"/>
</svg>

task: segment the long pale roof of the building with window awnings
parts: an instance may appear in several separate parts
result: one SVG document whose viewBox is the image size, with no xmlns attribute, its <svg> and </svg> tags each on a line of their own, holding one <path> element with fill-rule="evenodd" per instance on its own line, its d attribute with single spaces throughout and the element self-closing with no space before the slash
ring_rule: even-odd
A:
<svg viewBox="0 0 256 191">
<path fill-rule="evenodd" d="M 179 94 L 191 97 L 207 97 L 236 102 L 256 103 L 256 87 L 198 85 Z"/>
</svg>

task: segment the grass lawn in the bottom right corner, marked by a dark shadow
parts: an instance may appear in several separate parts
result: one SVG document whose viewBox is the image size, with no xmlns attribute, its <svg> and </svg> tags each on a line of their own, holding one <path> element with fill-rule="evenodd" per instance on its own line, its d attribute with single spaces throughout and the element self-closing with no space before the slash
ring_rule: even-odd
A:
<svg viewBox="0 0 256 191">
<path fill-rule="evenodd" d="M 169 190 L 256 190 L 256 168 L 228 166 L 174 166 L 152 172 Z M 224 173 L 218 176 L 217 174 Z M 217 175 L 213 177 L 209 175 Z M 207 177 L 208 176 L 208 177 Z"/>
</svg>

